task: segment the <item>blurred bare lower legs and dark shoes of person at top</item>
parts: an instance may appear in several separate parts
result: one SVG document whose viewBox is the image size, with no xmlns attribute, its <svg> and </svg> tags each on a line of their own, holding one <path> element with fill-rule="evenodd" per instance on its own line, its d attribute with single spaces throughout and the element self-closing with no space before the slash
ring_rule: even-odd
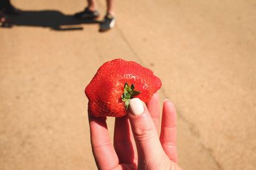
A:
<svg viewBox="0 0 256 170">
<path fill-rule="evenodd" d="M 99 11 L 97 11 L 97 3 L 95 0 L 87 0 L 88 6 L 84 11 L 78 12 L 74 17 L 79 19 L 95 19 L 99 17 Z M 113 9 L 113 1 L 107 0 L 107 11 L 104 20 L 100 23 L 100 31 L 108 31 L 115 25 L 115 11 Z"/>
</svg>

